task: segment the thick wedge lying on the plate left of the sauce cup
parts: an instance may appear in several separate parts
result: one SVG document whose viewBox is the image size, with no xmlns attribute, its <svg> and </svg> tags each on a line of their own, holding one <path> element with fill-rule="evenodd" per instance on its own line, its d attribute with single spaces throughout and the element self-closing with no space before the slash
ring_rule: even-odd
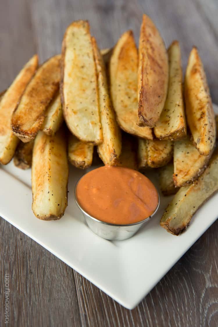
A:
<svg viewBox="0 0 218 327">
<path fill-rule="evenodd" d="M 49 136 L 39 131 L 32 158 L 32 210 L 42 220 L 62 217 L 67 207 L 68 161 L 63 128 Z"/>
</svg>

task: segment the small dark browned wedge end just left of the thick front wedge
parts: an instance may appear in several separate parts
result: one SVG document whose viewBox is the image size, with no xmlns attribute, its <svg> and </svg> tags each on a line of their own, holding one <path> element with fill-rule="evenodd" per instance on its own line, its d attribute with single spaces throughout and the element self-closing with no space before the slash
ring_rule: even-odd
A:
<svg viewBox="0 0 218 327">
<path fill-rule="evenodd" d="M 14 165 L 21 169 L 28 169 L 32 165 L 32 152 L 34 140 L 30 142 L 20 142 L 14 154 Z"/>
</svg>

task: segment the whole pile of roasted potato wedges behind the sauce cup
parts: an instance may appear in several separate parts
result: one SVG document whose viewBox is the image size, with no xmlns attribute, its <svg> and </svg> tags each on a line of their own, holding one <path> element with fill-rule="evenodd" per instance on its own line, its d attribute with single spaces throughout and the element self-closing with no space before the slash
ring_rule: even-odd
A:
<svg viewBox="0 0 218 327">
<path fill-rule="evenodd" d="M 183 232 L 218 189 L 218 119 L 197 48 L 183 82 L 179 42 L 166 50 L 144 14 L 138 48 L 129 30 L 99 50 L 79 20 L 67 27 L 61 54 L 38 60 L 0 94 L 0 163 L 31 167 L 36 217 L 64 214 L 68 163 L 90 167 L 96 148 L 107 165 L 158 168 L 163 195 L 175 194 L 160 225 Z"/>
</svg>

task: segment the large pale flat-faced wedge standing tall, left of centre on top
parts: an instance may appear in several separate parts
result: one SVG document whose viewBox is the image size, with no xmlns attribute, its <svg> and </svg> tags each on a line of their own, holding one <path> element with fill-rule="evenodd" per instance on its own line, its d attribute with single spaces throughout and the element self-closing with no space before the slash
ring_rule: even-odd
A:
<svg viewBox="0 0 218 327">
<path fill-rule="evenodd" d="M 87 21 L 76 21 L 66 29 L 62 43 L 60 94 L 70 131 L 81 141 L 101 143 L 97 73 Z"/>
</svg>

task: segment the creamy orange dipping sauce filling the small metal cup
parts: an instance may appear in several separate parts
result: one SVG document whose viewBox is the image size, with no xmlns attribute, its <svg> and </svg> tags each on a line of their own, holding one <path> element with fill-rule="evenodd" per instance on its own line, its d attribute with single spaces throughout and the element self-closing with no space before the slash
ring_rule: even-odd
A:
<svg viewBox="0 0 218 327">
<path fill-rule="evenodd" d="M 159 196 L 154 184 L 136 170 L 103 166 L 84 175 L 77 184 L 81 208 L 101 221 L 126 225 L 154 213 Z"/>
</svg>

